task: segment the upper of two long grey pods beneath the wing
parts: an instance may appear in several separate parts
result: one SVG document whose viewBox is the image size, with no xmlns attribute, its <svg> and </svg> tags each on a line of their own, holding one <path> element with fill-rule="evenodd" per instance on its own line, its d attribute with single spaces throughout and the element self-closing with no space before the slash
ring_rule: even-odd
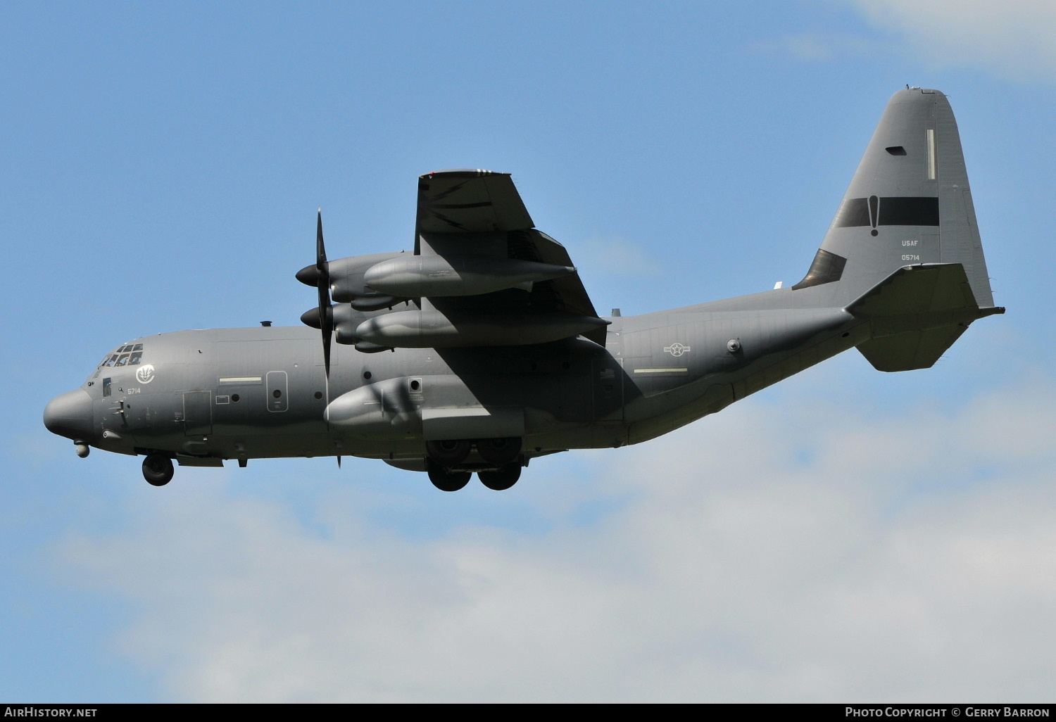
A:
<svg viewBox="0 0 1056 722">
<path fill-rule="evenodd" d="M 574 272 L 572 266 L 538 261 L 404 254 L 371 266 L 363 283 L 378 293 L 397 298 L 479 296 Z"/>
</svg>

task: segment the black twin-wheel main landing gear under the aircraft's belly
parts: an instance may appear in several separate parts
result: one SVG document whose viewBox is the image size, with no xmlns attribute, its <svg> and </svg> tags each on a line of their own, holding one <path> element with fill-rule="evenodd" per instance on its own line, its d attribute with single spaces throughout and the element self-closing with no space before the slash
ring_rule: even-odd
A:
<svg viewBox="0 0 1056 722">
<path fill-rule="evenodd" d="M 470 452 L 476 453 L 483 461 L 467 462 Z M 517 437 L 498 439 L 457 439 L 450 441 L 427 441 L 426 471 L 429 480 L 440 491 L 458 491 L 469 483 L 473 470 L 488 489 L 506 491 L 521 478 L 521 439 Z"/>
</svg>

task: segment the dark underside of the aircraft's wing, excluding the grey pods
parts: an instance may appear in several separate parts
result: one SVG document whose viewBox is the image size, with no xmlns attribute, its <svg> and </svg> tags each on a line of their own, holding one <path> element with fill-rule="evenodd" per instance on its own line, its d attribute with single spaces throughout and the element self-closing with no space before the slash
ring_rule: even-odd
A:
<svg viewBox="0 0 1056 722">
<path fill-rule="evenodd" d="M 572 266 L 565 247 L 534 228 L 510 174 L 487 170 L 445 170 L 418 178 L 414 252 Z M 578 272 L 533 282 L 528 292 L 507 289 L 431 298 L 429 303 L 464 315 L 534 311 L 598 318 Z M 583 336 L 605 345 L 604 326 Z"/>
</svg>

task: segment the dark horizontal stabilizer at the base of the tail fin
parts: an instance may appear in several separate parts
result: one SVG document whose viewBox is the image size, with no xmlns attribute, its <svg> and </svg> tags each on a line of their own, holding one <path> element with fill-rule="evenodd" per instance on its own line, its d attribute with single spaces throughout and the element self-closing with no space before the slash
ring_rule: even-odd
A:
<svg viewBox="0 0 1056 722">
<path fill-rule="evenodd" d="M 979 307 L 959 263 L 904 266 L 847 310 L 870 322 L 872 338 L 857 348 L 883 372 L 928 368 L 973 321 L 1004 312 Z"/>
</svg>

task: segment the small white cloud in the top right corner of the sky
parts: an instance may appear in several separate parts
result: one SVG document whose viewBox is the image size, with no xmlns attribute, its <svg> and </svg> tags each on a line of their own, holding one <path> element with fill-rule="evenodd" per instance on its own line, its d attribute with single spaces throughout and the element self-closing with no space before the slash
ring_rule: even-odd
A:
<svg viewBox="0 0 1056 722">
<path fill-rule="evenodd" d="M 983 66 L 1016 79 L 1056 73 L 1052 0 L 848 0 L 874 24 L 904 34 L 942 66 Z"/>
</svg>

